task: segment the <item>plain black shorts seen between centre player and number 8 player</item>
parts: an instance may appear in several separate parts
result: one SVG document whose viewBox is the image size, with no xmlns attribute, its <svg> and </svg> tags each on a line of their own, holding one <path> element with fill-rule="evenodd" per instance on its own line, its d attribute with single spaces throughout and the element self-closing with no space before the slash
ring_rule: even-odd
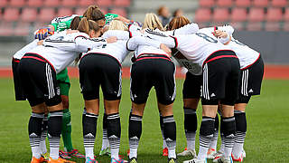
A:
<svg viewBox="0 0 289 163">
<path fill-rule="evenodd" d="M 201 84 L 202 84 L 201 75 L 194 75 L 191 72 L 187 72 L 186 79 L 183 82 L 182 98 L 183 99 L 200 98 Z"/>
</svg>

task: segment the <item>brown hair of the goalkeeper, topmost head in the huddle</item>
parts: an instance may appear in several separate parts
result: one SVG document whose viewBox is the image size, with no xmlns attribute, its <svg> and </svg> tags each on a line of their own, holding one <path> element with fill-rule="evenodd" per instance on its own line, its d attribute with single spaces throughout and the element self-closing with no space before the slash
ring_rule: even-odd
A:
<svg viewBox="0 0 289 163">
<path fill-rule="evenodd" d="M 87 17 L 89 20 L 98 22 L 98 20 L 105 20 L 106 16 L 103 14 L 98 5 L 89 5 L 89 8 L 84 12 L 83 17 Z"/>
</svg>

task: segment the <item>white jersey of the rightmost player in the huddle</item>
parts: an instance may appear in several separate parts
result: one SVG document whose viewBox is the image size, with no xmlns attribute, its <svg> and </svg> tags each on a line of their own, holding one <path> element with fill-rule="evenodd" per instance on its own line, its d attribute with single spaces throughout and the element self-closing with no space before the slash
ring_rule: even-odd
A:
<svg viewBox="0 0 289 163">
<path fill-rule="evenodd" d="M 259 58 L 260 53 L 256 52 L 255 50 L 251 49 L 244 43 L 240 43 L 238 40 L 234 39 L 232 34 L 234 32 L 234 28 L 230 25 L 225 25 L 218 27 L 219 30 L 224 31 L 228 34 L 228 38 L 219 38 L 219 41 L 221 43 L 228 43 L 226 46 L 228 46 L 230 49 L 232 49 L 236 55 L 238 56 L 238 60 L 240 62 L 240 68 L 244 69 L 247 66 L 253 64 L 256 62 L 256 60 Z M 202 28 L 200 31 L 208 31 L 208 32 L 214 32 L 214 27 L 210 28 Z M 231 39 L 229 41 L 229 39 Z"/>
</svg>

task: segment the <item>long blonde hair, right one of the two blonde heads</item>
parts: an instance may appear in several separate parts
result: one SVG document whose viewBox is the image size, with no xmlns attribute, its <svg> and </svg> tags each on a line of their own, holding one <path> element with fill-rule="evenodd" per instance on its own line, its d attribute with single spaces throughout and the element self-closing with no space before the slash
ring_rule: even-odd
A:
<svg viewBox="0 0 289 163">
<path fill-rule="evenodd" d="M 158 16 L 154 13 L 145 14 L 143 29 L 144 28 L 149 28 L 152 30 L 157 28 L 161 31 L 164 31 L 163 24 L 161 23 Z"/>
</svg>

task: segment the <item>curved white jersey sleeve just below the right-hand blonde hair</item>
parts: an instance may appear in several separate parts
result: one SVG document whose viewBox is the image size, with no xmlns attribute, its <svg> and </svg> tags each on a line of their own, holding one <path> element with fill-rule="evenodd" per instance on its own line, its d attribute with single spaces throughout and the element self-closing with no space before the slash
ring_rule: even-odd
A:
<svg viewBox="0 0 289 163">
<path fill-rule="evenodd" d="M 149 45 L 154 46 L 155 48 L 160 48 L 161 43 L 155 40 L 152 40 L 149 37 L 145 36 L 135 36 L 130 38 L 126 43 L 126 49 L 128 51 L 135 51 L 138 45 Z"/>
</svg>

